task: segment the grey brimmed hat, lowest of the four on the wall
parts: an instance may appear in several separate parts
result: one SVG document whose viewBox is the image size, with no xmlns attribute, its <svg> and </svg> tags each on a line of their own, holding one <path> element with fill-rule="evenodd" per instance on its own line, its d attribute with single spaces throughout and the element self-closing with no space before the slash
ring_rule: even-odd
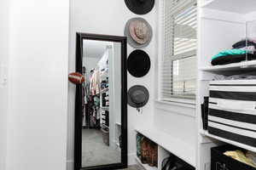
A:
<svg viewBox="0 0 256 170">
<path fill-rule="evenodd" d="M 131 87 L 128 91 L 128 104 L 131 105 L 131 107 L 143 107 L 148 103 L 148 99 L 148 89 L 143 86 L 136 85 Z"/>
</svg>

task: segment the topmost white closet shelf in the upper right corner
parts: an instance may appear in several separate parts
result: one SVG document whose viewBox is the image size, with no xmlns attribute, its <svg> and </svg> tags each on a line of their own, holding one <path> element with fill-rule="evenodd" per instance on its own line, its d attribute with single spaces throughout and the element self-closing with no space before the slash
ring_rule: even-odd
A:
<svg viewBox="0 0 256 170">
<path fill-rule="evenodd" d="M 202 8 L 217 9 L 230 13 L 249 14 L 256 10 L 255 0 L 205 0 Z"/>
</svg>

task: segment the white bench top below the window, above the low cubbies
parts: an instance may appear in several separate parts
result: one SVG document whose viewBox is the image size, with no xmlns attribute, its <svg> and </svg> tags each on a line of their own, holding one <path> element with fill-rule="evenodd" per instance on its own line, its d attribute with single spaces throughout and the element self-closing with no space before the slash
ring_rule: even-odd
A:
<svg viewBox="0 0 256 170">
<path fill-rule="evenodd" d="M 174 138 L 168 133 L 163 133 L 156 127 L 135 128 L 137 133 L 142 133 L 148 139 L 159 144 L 165 150 L 170 151 L 175 156 L 183 161 L 187 161 L 190 165 L 195 167 L 195 146 L 185 143 L 181 139 Z"/>
</svg>

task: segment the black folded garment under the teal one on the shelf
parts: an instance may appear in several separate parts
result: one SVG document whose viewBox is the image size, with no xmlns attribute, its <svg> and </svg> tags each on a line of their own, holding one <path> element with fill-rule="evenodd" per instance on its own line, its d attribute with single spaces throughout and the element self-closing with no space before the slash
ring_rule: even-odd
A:
<svg viewBox="0 0 256 170">
<path fill-rule="evenodd" d="M 253 54 L 232 54 L 232 55 L 224 55 L 218 58 L 212 59 L 212 65 L 227 65 L 230 63 L 239 63 L 241 61 L 256 59 L 256 56 Z"/>
</svg>

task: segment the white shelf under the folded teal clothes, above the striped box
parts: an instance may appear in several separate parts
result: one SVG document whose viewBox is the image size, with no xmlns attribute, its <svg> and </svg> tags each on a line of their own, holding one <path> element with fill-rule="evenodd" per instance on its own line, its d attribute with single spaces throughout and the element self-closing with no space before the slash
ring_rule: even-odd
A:
<svg viewBox="0 0 256 170">
<path fill-rule="evenodd" d="M 256 70 L 256 60 L 243 61 L 240 63 L 232 63 L 229 65 L 215 65 L 201 67 L 201 71 L 218 72 L 218 71 L 250 71 Z"/>
</svg>

